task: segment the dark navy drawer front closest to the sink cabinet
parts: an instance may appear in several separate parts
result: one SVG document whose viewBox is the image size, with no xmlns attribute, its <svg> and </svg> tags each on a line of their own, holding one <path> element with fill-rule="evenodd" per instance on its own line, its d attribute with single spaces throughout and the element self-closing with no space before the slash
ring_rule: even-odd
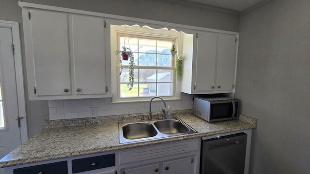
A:
<svg viewBox="0 0 310 174">
<path fill-rule="evenodd" d="M 115 166 L 115 154 L 72 160 L 72 173 Z"/>
</svg>

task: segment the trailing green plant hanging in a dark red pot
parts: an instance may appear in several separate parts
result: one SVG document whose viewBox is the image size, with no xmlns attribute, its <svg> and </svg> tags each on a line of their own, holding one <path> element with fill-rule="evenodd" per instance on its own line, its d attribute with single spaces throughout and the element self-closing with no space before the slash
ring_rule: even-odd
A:
<svg viewBox="0 0 310 174">
<path fill-rule="evenodd" d="M 134 86 L 134 70 L 135 70 L 135 62 L 134 62 L 134 55 L 130 48 L 123 46 L 122 51 L 116 50 L 115 54 L 120 54 L 120 64 L 121 64 L 121 70 L 119 72 L 119 75 L 122 75 L 123 73 L 123 60 L 129 61 L 129 82 L 127 84 L 128 90 L 131 91 L 132 87 Z"/>
</svg>

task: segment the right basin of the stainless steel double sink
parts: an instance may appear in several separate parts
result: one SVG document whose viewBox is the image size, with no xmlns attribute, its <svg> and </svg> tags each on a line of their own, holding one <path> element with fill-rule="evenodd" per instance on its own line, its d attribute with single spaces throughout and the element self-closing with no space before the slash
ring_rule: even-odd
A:
<svg viewBox="0 0 310 174">
<path fill-rule="evenodd" d="M 156 121 L 154 125 L 158 131 L 164 134 L 177 134 L 189 131 L 189 128 L 186 127 L 183 123 L 173 119 Z"/>
</svg>

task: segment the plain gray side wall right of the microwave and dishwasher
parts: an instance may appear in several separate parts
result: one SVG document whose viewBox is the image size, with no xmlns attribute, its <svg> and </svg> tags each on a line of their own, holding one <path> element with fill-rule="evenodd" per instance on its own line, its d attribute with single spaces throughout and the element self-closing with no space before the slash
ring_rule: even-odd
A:
<svg viewBox="0 0 310 174">
<path fill-rule="evenodd" d="M 309 174 L 310 0 L 273 0 L 239 32 L 236 98 L 258 119 L 250 174 Z"/>
</svg>

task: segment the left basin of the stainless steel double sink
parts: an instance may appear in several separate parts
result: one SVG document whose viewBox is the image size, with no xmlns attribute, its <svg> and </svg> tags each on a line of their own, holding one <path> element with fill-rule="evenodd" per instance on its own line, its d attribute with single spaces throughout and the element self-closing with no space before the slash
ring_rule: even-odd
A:
<svg viewBox="0 0 310 174">
<path fill-rule="evenodd" d="M 124 138 L 135 140 L 140 138 L 153 137 L 157 131 L 150 123 L 133 123 L 123 126 Z"/>
</svg>

